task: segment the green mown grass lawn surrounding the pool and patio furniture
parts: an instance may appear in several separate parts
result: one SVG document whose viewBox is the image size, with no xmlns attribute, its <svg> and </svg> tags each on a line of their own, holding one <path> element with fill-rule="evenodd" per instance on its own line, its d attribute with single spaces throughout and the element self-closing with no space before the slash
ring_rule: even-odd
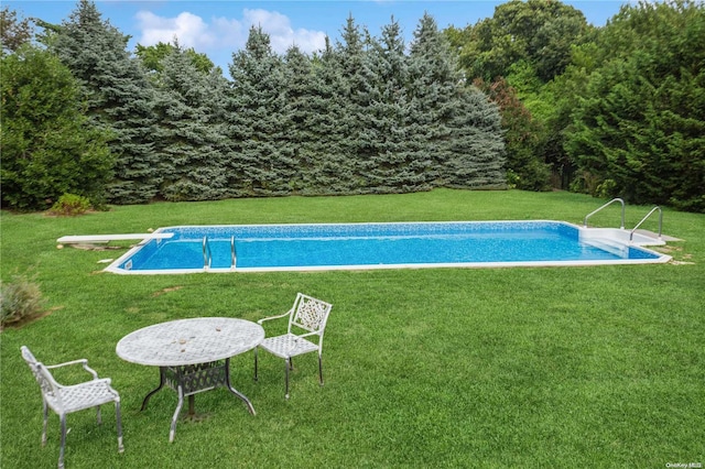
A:
<svg viewBox="0 0 705 469">
<path fill-rule="evenodd" d="M 705 463 L 705 217 L 664 209 L 651 265 L 425 269 L 316 273 L 115 275 L 118 251 L 56 249 L 65 234 L 145 232 L 173 225 L 552 219 L 582 223 L 605 200 L 568 193 L 434 190 L 355 197 L 239 199 L 115 207 L 76 218 L 1 215 L 2 280 L 34 275 L 48 314 L 0 335 L 0 466 L 50 468 L 58 418 L 42 448 L 42 401 L 20 346 L 46 363 L 88 358 L 122 397 L 115 411 L 68 416 L 67 468 L 665 467 Z M 628 206 L 633 227 L 651 207 Z M 658 217 L 644 228 L 657 230 Z M 619 226 L 619 207 L 590 218 Z M 232 359 L 234 385 L 196 396 L 142 399 L 158 370 L 120 360 L 138 328 L 176 318 L 256 320 L 296 292 L 334 304 L 324 374 L 301 357 L 284 400 L 283 362 Z"/>
</svg>

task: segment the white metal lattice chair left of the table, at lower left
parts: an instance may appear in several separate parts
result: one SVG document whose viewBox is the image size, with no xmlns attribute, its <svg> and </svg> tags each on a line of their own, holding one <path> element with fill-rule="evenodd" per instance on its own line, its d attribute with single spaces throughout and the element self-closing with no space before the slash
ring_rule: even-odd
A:
<svg viewBox="0 0 705 469">
<path fill-rule="evenodd" d="M 58 414 L 62 423 L 62 446 L 58 454 L 58 467 L 64 467 L 64 447 L 66 445 L 66 415 L 72 412 L 97 407 L 98 424 L 101 423 L 100 405 L 115 402 L 116 419 L 118 426 L 118 452 L 122 452 L 122 423 L 120 418 L 120 395 L 110 386 L 110 379 L 98 378 L 98 373 L 88 367 L 88 360 L 79 359 L 45 366 L 37 361 L 29 348 L 22 346 L 22 358 L 30 366 L 34 378 L 42 389 L 42 400 L 44 401 L 44 426 L 42 429 L 42 446 L 46 445 L 46 423 L 48 419 L 48 408 Z M 74 385 L 62 385 L 52 375 L 52 369 L 70 364 L 82 364 L 93 377 L 93 380 Z"/>
</svg>

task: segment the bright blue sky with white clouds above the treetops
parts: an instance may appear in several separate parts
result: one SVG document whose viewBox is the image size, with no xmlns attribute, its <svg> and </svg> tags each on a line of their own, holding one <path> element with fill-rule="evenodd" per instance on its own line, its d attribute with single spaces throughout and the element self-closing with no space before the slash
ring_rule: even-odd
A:
<svg viewBox="0 0 705 469">
<path fill-rule="evenodd" d="M 588 23 L 603 26 L 628 0 L 564 0 L 581 10 Z M 356 24 L 379 37 L 392 17 L 409 43 L 424 13 L 431 14 L 440 29 L 465 28 L 491 18 L 498 0 L 97 0 L 102 19 L 130 35 L 128 47 L 134 51 L 159 42 L 173 43 L 206 54 L 228 75 L 232 53 L 247 42 L 250 26 L 261 26 L 270 35 L 272 50 L 285 53 L 296 44 L 313 53 L 324 47 L 326 35 L 333 44 L 349 15 Z M 2 0 L 20 18 L 39 18 L 61 24 L 76 10 L 78 1 Z"/>
</svg>

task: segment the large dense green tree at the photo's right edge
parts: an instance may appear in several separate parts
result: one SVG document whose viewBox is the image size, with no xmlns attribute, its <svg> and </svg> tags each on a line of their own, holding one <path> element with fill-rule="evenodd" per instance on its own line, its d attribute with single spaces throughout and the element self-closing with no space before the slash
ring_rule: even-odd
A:
<svg viewBox="0 0 705 469">
<path fill-rule="evenodd" d="M 705 7 L 622 7 L 598 43 L 566 141 L 585 188 L 705 211 Z"/>
</svg>

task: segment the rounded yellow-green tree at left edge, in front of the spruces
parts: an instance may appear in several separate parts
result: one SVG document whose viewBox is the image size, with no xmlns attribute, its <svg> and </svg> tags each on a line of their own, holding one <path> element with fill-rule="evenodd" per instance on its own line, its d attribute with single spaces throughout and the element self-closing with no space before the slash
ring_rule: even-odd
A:
<svg viewBox="0 0 705 469">
<path fill-rule="evenodd" d="M 2 205 L 48 208 L 64 194 L 105 199 L 108 135 L 82 113 L 78 86 L 51 53 L 24 45 L 0 58 Z"/>
</svg>

